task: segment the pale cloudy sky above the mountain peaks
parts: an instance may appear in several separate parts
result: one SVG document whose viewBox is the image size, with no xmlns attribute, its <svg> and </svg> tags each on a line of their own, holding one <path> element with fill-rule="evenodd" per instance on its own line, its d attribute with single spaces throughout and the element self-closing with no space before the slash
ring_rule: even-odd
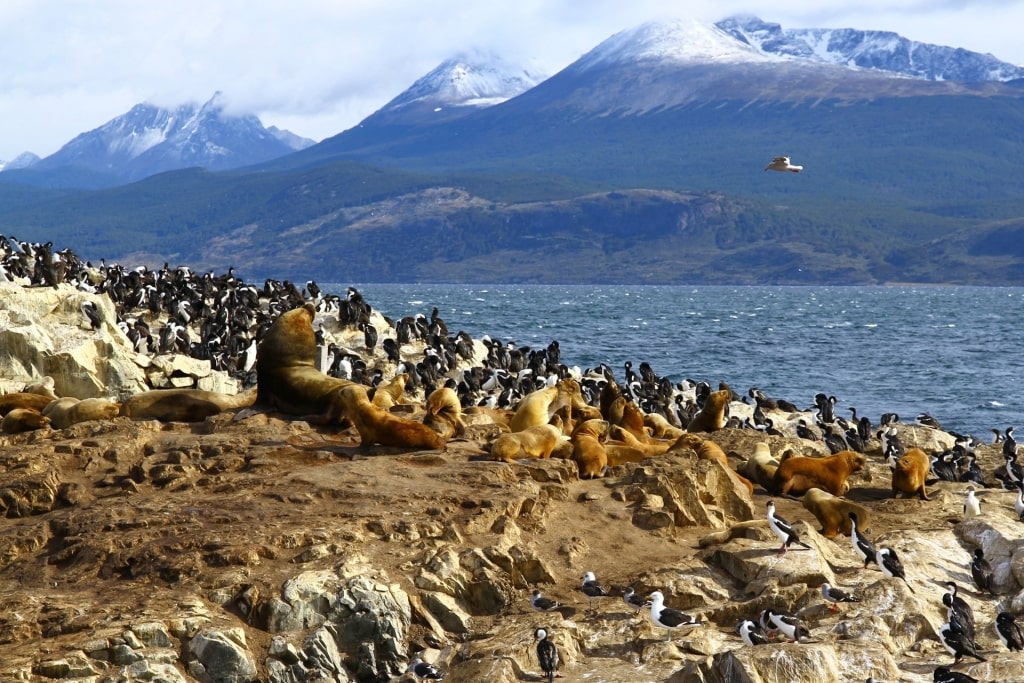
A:
<svg viewBox="0 0 1024 683">
<path fill-rule="evenodd" d="M 1024 0 L 0 0 L 0 160 L 50 155 L 141 101 L 218 90 L 264 125 L 319 140 L 462 50 L 550 75 L 646 20 L 737 13 L 1024 65 Z"/>
</svg>

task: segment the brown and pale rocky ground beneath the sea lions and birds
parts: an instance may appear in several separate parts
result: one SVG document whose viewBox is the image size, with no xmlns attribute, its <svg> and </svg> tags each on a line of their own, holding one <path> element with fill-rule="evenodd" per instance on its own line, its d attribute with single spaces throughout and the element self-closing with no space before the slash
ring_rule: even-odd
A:
<svg viewBox="0 0 1024 683">
<path fill-rule="evenodd" d="M 306 288 L 296 294 L 316 299 Z M 83 300 L 95 302 L 98 328 L 82 315 Z M 428 360 L 426 335 L 401 328 L 429 334 L 443 321 L 387 321 L 369 305 L 345 311 L 342 301 L 351 296 L 314 323 L 328 339 L 325 368 L 334 366 L 326 364 L 334 344 L 335 358 L 362 361 L 355 372 L 368 384 L 418 366 L 428 382 L 465 378 L 514 348 L 469 340 L 460 351 L 445 331 L 451 357 Z M 261 308 L 270 308 L 267 298 Z M 240 367 L 140 353 L 119 326 L 131 315 L 109 294 L 68 283 L 0 285 L 3 391 L 43 377 L 57 395 L 112 400 L 157 387 L 247 388 Z M 154 314 L 153 332 L 169 319 Z M 379 340 L 369 346 L 368 323 L 379 340 L 396 342 L 397 361 Z M 444 372 L 432 377 L 426 366 Z M 426 395 L 411 387 L 391 411 L 422 421 Z M 870 537 L 903 558 L 903 584 L 862 569 L 849 538 L 825 538 L 800 499 L 772 496 L 750 472 L 759 444 L 775 457 L 828 454 L 823 441 L 797 435 L 814 412 L 766 408 L 776 435 L 741 427 L 754 409 L 730 402 L 739 425 L 701 435 L 728 466 L 672 449 L 595 479 L 581 478 L 571 458 L 490 460 L 501 430 L 483 420 L 468 420 L 464 434 L 430 452 L 366 446 L 352 428 L 265 410 L 0 435 L 2 678 L 411 681 L 406 667 L 420 656 L 449 681 L 541 680 L 532 637 L 544 627 L 567 681 L 931 681 L 953 661 L 938 637 L 948 581 L 974 607 L 986 658 L 953 669 L 984 681 L 1019 678 L 1022 654 L 992 628 L 997 611 L 1024 612 L 1024 525 L 995 476 L 1000 445 L 975 447 L 982 513 L 965 520 L 971 482 L 930 479 L 931 500 L 894 498 L 883 443 L 877 434 L 867 440 L 867 463 L 845 498 L 869 511 Z M 931 455 L 956 441 L 921 425 L 900 423 L 899 433 Z M 730 469 L 752 474 L 753 494 Z M 765 522 L 770 499 L 810 550 L 778 554 Z M 972 583 L 975 548 L 992 563 L 996 596 Z M 610 597 L 583 595 L 587 571 Z M 830 611 L 818 590 L 825 582 L 860 602 Z M 621 599 L 627 587 L 660 591 L 702 625 L 666 640 L 645 610 Z M 534 610 L 535 589 L 562 609 Z M 763 609 L 798 613 L 811 637 L 744 645 L 736 623 Z"/>
</svg>

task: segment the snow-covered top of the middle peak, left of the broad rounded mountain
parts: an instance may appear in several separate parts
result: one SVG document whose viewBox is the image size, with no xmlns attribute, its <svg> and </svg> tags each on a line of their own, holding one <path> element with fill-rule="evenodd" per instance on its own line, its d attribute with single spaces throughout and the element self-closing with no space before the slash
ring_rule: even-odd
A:
<svg viewBox="0 0 1024 683">
<path fill-rule="evenodd" d="M 418 79 L 397 97 L 382 106 L 371 119 L 395 123 L 452 118 L 493 106 L 519 95 L 546 75 L 513 65 L 494 52 L 471 50 L 445 59 Z"/>
</svg>

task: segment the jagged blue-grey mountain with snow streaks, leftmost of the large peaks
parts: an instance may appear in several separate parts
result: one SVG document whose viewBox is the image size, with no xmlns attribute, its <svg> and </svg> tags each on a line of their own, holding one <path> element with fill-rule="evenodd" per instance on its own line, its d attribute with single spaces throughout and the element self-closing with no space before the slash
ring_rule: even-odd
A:
<svg viewBox="0 0 1024 683">
<path fill-rule="evenodd" d="M 136 104 L 123 116 L 82 133 L 33 170 L 79 167 L 133 180 L 179 168 L 226 170 L 281 157 L 313 144 L 288 131 L 268 130 L 252 115 L 228 116 L 219 94 L 169 110 Z"/>
</svg>

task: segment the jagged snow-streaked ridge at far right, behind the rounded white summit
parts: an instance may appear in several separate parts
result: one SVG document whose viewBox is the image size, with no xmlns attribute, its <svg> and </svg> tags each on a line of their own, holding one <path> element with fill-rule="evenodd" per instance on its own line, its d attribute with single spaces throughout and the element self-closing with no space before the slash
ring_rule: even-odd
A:
<svg viewBox="0 0 1024 683">
<path fill-rule="evenodd" d="M 991 54 L 908 40 L 890 31 L 782 29 L 757 16 L 732 16 L 715 27 L 765 55 L 856 67 L 929 81 L 1010 81 L 1024 68 Z"/>
</svg>

